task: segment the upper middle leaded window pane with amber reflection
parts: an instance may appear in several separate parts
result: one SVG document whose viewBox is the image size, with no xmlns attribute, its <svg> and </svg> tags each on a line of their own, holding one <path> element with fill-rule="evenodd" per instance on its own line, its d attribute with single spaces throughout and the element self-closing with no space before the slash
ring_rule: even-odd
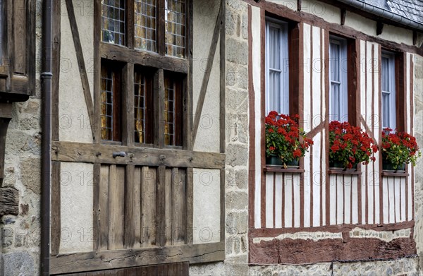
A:
<svg viewBox="0 0 423 276">
<path fill-rule="evenodd" d="M 157 52 L 156 0 L 135 0 L 135 48 Z"/>
</svg>

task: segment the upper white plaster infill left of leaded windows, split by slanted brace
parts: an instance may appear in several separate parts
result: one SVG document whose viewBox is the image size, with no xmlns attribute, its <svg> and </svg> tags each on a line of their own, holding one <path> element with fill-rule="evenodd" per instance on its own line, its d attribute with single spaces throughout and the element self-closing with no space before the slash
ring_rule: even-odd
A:
<svg viewBox="0 0 423 276">
<path fill-rule="evenodd" d="M 93 6 L 90 1 L 73 1 L 85 68 L 93 99 Z M 61 72 L 59 82 L 59 137 L 63 141 L 92 143 L 90 119 L 85 104 L 71 25 L 65 1 L 61 1 Z"/>
</svg>

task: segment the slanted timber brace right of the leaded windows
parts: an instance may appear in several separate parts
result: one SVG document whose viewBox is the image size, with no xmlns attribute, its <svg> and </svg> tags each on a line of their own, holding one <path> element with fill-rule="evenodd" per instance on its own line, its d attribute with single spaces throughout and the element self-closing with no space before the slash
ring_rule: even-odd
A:
<svg viewBox="0 0 423 276">
<path fill-rule="evenodd" d="M 212 73 L 212 66 L 214 60 L 214 54 L 216 53 L 217 41 L 219 40 L 219 32 L 223 25 L 223 5 L 219 8 L 219 14 L 216 18 L 216 25 L 214 25 L 214 32 L 212 38 L 212 44 L 210 45 L 209 56 L 207 57 L 207 66 L 204 72 L 204 77 L 201 84 L 200 96 L 198 97 L 197 108 L 195 109 L 194 128 L 192 129 L 192 143 L 195 143 L 197 137 L 198 126 L 200 125 L 200 117 L 204 100 L 206 98 L 207 86 L 209 85 L 210 74 Z"/>
</svg>

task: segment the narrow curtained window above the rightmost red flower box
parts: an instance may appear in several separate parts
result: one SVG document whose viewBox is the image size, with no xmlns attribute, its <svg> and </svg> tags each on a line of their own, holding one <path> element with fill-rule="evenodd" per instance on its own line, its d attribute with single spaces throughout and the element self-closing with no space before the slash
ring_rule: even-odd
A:
<svg viewBox="0 0 423 276">
<path fill-rule="evenodd" d="M 396 128 L 396 93 L 395 93 L 395 56 L 390 52 L 382 52 L 382 127 Z"/>
</svg>

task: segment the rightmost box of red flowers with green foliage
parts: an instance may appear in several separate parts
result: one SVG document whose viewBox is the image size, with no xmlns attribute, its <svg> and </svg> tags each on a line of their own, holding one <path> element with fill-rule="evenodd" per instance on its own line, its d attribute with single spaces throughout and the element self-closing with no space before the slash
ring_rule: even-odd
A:
<svg viewBox="0 0 423 276">
<path fill-rule="evenodd" d="M 384 128 L 382 131 L 382 169 L 404 171 L 405 164 L 416 165 L 422 155 L 416 138 L 408 133 Z"/>
</svg>

